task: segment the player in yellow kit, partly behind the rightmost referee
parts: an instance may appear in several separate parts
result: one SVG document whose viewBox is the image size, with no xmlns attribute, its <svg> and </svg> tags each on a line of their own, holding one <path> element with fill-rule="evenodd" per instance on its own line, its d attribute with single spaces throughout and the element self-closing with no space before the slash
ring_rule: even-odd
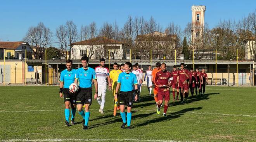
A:
<svg viewBox="0 0 256 142">
<path fill-rule="evenodd" d="M 113 96 L 113 100 L 114 100 L 114 103 L 115 103 L 115 99 L 114 99 L 114 96 L 115 96 L 115 93 L 116 93 L 116 85 L 117 85 L 117 80 L 118 80 L 118 76 L 120 73 L 122 73 L 123 71 L 121 71 L 120 69 L 118 69 L 118 64 L 117 63 L 114 63 L 113 64 L 113 70 L 109 72 L 109 77 L 111 79 L 111 84 L 112 84 L 112 96 Z M 118 108 L 119 110 L 119 105 L 118 105 Z"/>
</svg>

